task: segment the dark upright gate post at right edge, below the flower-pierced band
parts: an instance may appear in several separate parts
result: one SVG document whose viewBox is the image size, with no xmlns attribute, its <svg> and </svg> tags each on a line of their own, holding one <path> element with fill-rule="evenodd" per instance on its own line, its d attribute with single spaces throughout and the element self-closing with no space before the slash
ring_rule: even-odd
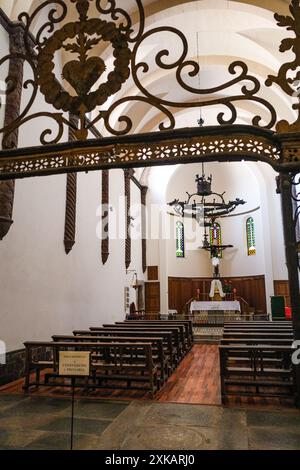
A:
<svg viewBox="0 0 300 470">
<path fill-rule="evenodd" d="M 282 218 L 285 240 L 286 263 L 289 276 L 289 288 L 292 308 L 294 339 L 300 340 L 300 291 L 299 259 L 296 240 L 295 211 L 292 199 L 292 175 L 281 173 L 278 178 L 281 193 Z M 300 406 L 300 366 L 296 366 L 297 403 Z"/>
</svg>

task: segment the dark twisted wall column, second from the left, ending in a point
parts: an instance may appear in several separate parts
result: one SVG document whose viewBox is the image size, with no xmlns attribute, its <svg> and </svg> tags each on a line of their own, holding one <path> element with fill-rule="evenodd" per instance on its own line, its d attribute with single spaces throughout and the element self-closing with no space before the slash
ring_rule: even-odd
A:
<svg viewBox="0 0 300 470">
<path fill-rule="evenodd" d="M 70 122 L 74 128 L 78 128 L 78 117 L 70 115 Z M 69 142 L 76 139 L 75 129 L 69 127 Z M 65 234 L 64 245 L 66 254 L 69 254 L 75 244 L 76 234 L 76 208 L 77 208 L 77 173 L 67 174 L 66 187 L 66 216 L 65 216 Z"/>
</svg>

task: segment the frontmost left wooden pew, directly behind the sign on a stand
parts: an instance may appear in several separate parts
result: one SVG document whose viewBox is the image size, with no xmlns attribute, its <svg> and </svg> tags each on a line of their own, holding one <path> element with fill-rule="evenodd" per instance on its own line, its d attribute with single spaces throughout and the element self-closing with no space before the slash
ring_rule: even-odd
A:
<svg viewBox="0 0 300 470">
<path fill-rule="evenodd" d="M 90 351 L 91 352 L 91 375 L 87 379 L 77 379 L 76 387 L 128 389 L 137 388 L 146 390 L 153 396 L 159 389 L 157 368 L 152 359 L 151 343 L 99 343 L 99 342 L 41 342 L 31 341 L 24 343 L 26 349 L 26 377 L 24 390 L 28 391 L 32 386 L 59 386 L 69 387 L 64 377 L 58 375 L 59 351 Z M 35 361 L 33 351 L 36 348 L 51 348 L 53 350 L 53 361 L 40 364 Z M 47 372 L 44 382 L 40 381 L 40 370 L 51 368 Z M 35 381 L 30 381 L 32 372 L 36 373 Z M 54 381 L 50 381 L 54 379 Z M 59 379 L 57 382 L 56 379 Z M 114 383 L 114 385 L 111 384 Z M 133 383 L 142 384 L 134 386 Z M 125 385 L 126 384 L 126 385 Z"/>
</svg>

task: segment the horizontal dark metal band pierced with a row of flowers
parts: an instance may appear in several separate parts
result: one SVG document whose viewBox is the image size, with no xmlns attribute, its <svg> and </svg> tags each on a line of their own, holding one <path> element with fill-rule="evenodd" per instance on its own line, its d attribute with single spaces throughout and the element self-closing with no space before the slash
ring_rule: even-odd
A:
<svg viewBox="0 0 300 470">
<path fill-rule="evenodd" d="M 300 168 L 283 161 L 277 136 L 253 126 L 213 126 L 105 137 L 0 151 L 0 179 L 74 171 L 137 168 L 201 161 L 262 161 L 275 170 Z"/>
</svg>

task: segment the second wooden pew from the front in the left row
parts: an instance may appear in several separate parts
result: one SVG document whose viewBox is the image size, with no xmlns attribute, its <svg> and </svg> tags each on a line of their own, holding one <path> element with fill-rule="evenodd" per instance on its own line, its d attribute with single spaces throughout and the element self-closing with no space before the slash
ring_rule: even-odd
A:
<svg viewBox="0 0 300 470">
<path fill-rule="evenodd" d="M 152 346 L 152 359 L 160 371 L 160 382 L 163 385 L 170 373 L 169 363 L 165 357 L 163 339 L 156 337 L 132 337 L 132 336 L 74 336 L 74 335 L 53 335 L 55 342 L 98 342 L 98 343 L 150 343 Z"/>
</svg>

